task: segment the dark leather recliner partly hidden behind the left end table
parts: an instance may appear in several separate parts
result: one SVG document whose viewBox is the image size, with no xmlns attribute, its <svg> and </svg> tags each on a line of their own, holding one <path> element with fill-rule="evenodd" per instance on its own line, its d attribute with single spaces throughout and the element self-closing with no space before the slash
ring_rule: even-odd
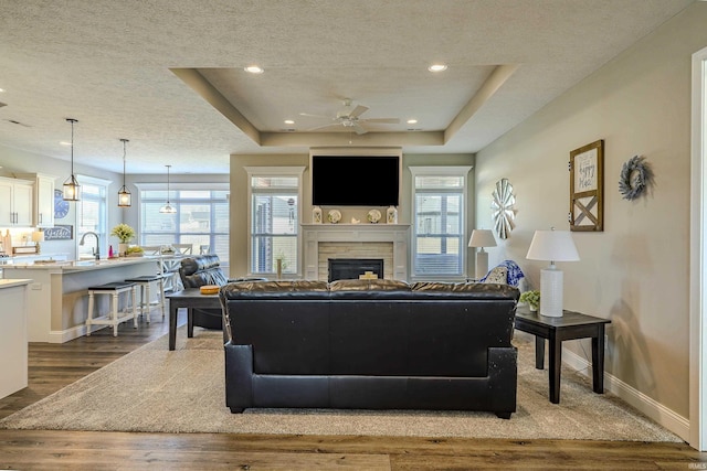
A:
<svg viewBox="0 0 707 471">
<path fill-rule="evenodd" d="M 228 282 L 244 280 L 265 280 L 265 278 L 226 278 L 221 270 L 221 259 L 215 254 L 194 255 L 181 259 L 179 278 L 184 289 L 205 285 L 223 286 Z M 204 329 L 223 329 L 223 314 L 220 309 L 193 309 L 193 324 Z"/>
</svg>

